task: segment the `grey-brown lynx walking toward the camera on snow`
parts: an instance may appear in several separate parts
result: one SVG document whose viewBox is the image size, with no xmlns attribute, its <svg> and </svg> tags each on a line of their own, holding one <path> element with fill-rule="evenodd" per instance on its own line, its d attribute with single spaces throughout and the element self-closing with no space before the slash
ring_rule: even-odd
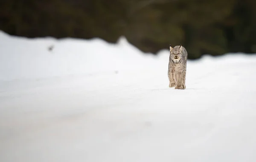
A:
<svg viewBox="0 0 256 162">
<path fill-rule="evenodd" d="M 175 87 L 175 89 L 185 89 L 186 80 L 186 61 L 188 53 L 186 49 L 177 45 L 174 48 L 170 45 L 170 58 L 169 58 L 169 87 Z"/>
</svg>

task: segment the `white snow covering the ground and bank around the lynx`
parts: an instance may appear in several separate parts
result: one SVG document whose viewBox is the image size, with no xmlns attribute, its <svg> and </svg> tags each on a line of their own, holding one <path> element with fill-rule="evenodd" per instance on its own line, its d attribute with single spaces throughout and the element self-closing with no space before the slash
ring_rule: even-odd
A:
<svg viewBox="0 0 256 162">
<path fill-rule="evenodd" d="M 185 90 L 168 62 L 1 31 L 0 162 L 256 162 L 256 55 L 189 60 Z"/>
</svg>

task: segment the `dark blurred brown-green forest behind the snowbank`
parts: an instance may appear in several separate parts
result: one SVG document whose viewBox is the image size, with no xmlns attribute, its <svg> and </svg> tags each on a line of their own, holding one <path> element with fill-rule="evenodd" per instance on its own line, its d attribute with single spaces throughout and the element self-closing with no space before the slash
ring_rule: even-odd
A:
<svg viewBox="0 0 256 162">
<path fill-rule="evenodd" d="M 125 36 L 144 52 L 256 53 L 256 0 L 1 0 L 0 30 L 24 37 Z"/>
</svg>

